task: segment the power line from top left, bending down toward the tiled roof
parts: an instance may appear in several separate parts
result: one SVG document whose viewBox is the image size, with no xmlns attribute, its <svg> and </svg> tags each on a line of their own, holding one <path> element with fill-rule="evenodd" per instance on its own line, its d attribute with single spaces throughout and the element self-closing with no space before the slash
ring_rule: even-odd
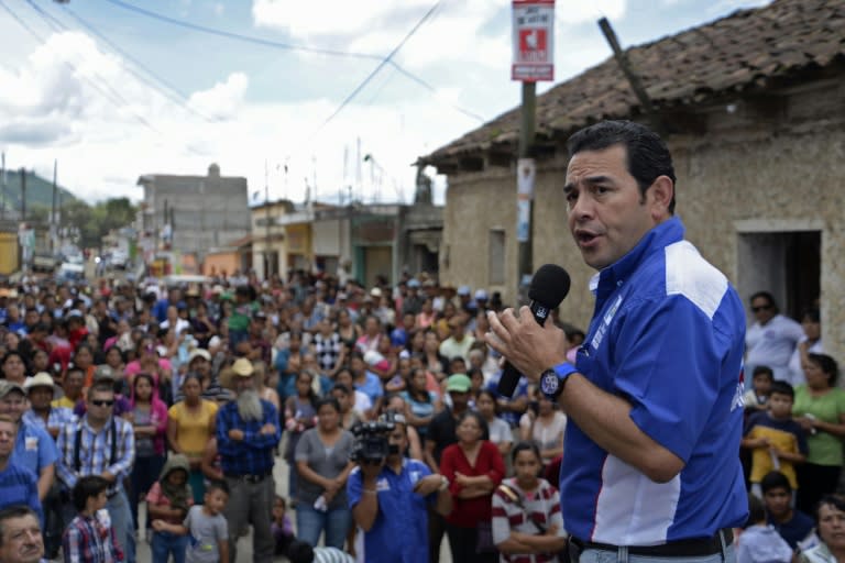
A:
<svg viewBox="0 0 845 563">
<path fill-rule="evenodd" d="M 188 22 L 188 21 L 185 21 L 185 20 L 178 20 L 176 18 L 171 18 L 168 15 L 164 15 L 164 14 L 161 14 L 161 13 L 157 13 L 157 12 L 153 12 L 151 10 L 146 10 L 144 8 L 140 8 L 140 7 L 133 5 L 133 4 L 124 2 L 122 0 L 106 0 L 106 1 L 111 3 L 111 4 L 113 4 L 113 5 L 122 8 L 124 10 L 129 10 L 129 11 L 132 11 L 132 12 L 135 12 L 135 13 L 140 13 L 142 15 L 147 16 L 147 18 L 152 18 L 154 20 L 158 20 L 158 21 L 162 21 L 162 22 L 169 23 L 171 25 L 176 25 L 176 26 L 179 26 L 179 27 L 185 27 L 185 29 L 197 31 L 197 32 L 201 32 L 201 33 L 209 33 L 211 35 L 217 35 L 217 36 L 226 37 L 226 38 L 229 38 L 229 40 L 241 41 L 241 42 L 245 42 L 245 43 L 252 43 L 254 45 L 262 45 L 262 46 L 265 46 L 265 47 L 278 48 L 278 49 L 283 49 L 283 51 L 299 51 L 299 52 L 303 52 L 303 53 L 315 53 L 315 54 L 328 55 L 328 56 L 338 56 L 338 57 L 347 57 L 347 58 L 359 58 L 359 59 L 371 59 L 371 60 L 380 60 L 380 62 L 384 60 L 384 57 L 382 57 L 381 55 L 374 55 L 374 54 L 367 54 L 367 53 L 355 53 L 355 52 L 350 52 L 350 51 L 334 51 L 334 49 L 326 49 L 326 48 L 315 48 L 315 47 L 307 47 L 307 46 L 304 46 L 304 45 L 295 45 L 295 44 L 290 44 L 290 43 L 281 43 L 281 42 L 277 42 L 277 41 L 265 40 L 265 38 L 261 38 L 261 37 L 254 37 L 254 36 L 244 35 L 244 34 L 241 34 L 241 33 L 228 32 L 228 31 L 224 31 L 224 30 L 216 29 L 216 27 L 209 27 L 207 25 L 199 25 L 199 24 L 195 24 L 195 23 L 191 23 L 191 22 Z M 445 106 L 448 106 L 449 108 L 453 109 L 454 111 L 458 111 L 459 113 L 462 113 L 462 114 L 467 115 L 468 118 L 471 118 L 471 119 L 473 119 L 475 121 L 479 121 L 480 123 L 484 123 L 486 121 L 484 118 L 482 118 L 478 113 L 474 113 L 474 112 L 472 112 L 472 111 L 470 111 L 468 109 L 461 108 L 460 106 L 457 106 L 454 103 L 450 103 L 450 102 L 443 101 L 442 99 L 440 99 L 437 96 L 437 88 L 431 86 L 429 82 L 427 82 L 422 78 L 419 78 L 418 76 L 414 75 L 409 70 L 403 68 L 395 60 L 389 59 L 387 64 L 391 65 L 392 67 L 396 68 L 396 70 L 398 70 L 406 78 L 413 80 L 418 86 L 421 86 L 422 88 L 425 88 L 429 92 L 434 93 L 435 95 L 435 99 L 438 102 L 443 103 Z"/>
</svg>

